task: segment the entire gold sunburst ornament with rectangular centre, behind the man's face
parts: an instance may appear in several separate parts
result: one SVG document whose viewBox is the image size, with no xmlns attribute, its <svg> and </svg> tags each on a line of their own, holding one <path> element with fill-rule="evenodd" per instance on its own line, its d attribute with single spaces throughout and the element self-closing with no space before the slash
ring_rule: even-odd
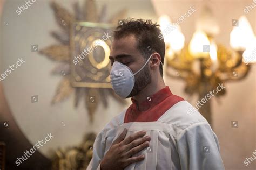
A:
<svg viewBox="0 0 256 170">
<path fill-rule="evenodd" d="M 51 45 L 39 51 L 59 65 L 52 74 L 63 76 L 51 103 L 56 104 L 75 93 L 75 107 L 85 99 L 85 107 L 89 112 L 90 122 L 99 103 L 107 107 L 107 95 L 111 95 L 120 103 L 124 100 L 114 94 L 110 84 L 110 46 L 109 34 L 118 19 L 124 18 L 126 10 L 122 10 L 111 19 L 106 18 L 106 5 L 100 14 L 97 13 L 94 1 L 86 0 L 84 10 L 74 3 L 75 14 L 62 8 L 55 1 L 51 7 L 62 31 L 53 31 L 51 35 L 60 44 Z"/>
</svg>

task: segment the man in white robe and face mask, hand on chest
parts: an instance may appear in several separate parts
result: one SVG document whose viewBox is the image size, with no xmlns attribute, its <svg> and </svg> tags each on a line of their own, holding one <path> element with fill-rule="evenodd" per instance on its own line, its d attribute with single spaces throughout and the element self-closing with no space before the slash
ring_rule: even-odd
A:
<svg viewBox="0 0 256 170">
<path fill-rule="evenodd" d="M 142 19 L 114 31 L 111 84 L 132 104 L 98 134 L 87 169 L 224 169 L 211 126 L 165 86 L 159 35 L 159 25 Z"/>
</svg>

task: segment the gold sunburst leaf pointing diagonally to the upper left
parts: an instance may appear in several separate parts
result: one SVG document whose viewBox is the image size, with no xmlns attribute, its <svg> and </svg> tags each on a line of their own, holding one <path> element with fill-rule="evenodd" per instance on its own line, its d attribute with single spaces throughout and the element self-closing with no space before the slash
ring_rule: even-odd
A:
<svg viewBox="0 0 256 170">
<path fill-rule="evenodd" d="M 69 13 L 68 10 L 62 8 L 55 1 L 51 2 L 51 7 L 55 12 L 55 17 L 57 19 L 58 24 L 66 31 L 69 32 L 70 26 L 74 20 L 74 16 Z"/>
</svg>

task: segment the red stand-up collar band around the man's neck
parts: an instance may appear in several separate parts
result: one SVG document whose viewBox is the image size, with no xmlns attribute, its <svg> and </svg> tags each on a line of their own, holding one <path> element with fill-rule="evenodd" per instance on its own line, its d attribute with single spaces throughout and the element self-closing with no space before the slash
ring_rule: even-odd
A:
<svg viewBox="0 0 256 170">
<path fill-rule="evenodd" d="M 169 97 L 172 95 L 172 92 L 170 90 L 170 88 L 168 86 L 166 86 L 165 88 L 157 91 L 157 93 L 148 96 L 147 99 L 141 103 L 139 103 L 138 101 L 136 101 L 134 98 L 131 98 L 132 101 L 132 109 L 136 110 L 136 111 L 145 111 L 145 110 L 149 110 L 152 107 L 154 107 L 155 105 L 159 104 L 161 101 L 165 100 L 165 98 Z M 140 108 L 140 110 L 138 109 L 138 106 Z"/>
</svg>

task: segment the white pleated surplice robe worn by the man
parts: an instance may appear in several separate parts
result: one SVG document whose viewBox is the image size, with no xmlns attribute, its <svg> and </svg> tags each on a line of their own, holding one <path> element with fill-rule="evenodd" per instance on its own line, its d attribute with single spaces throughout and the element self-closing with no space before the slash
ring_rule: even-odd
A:
<svg viewBox="0 0 256 170">
<path fill-rule="evenodd" d="M 130 164 L 125 170 L 225 169 L 216 134 L 196 109 L 192 114 L 187 113 L 191 108 L 187 101 L 180 101 L 154 122 L 124 123 L 126 110 L 121 112 L 96 137 L 87 169 L 100 169 L 100 161 L 124 128 L 128 130 L 126 137 L 141 130 L 151 136 L 150 147 L 133 155 L 144 154 L 145 159 Z"/>
</svg>

